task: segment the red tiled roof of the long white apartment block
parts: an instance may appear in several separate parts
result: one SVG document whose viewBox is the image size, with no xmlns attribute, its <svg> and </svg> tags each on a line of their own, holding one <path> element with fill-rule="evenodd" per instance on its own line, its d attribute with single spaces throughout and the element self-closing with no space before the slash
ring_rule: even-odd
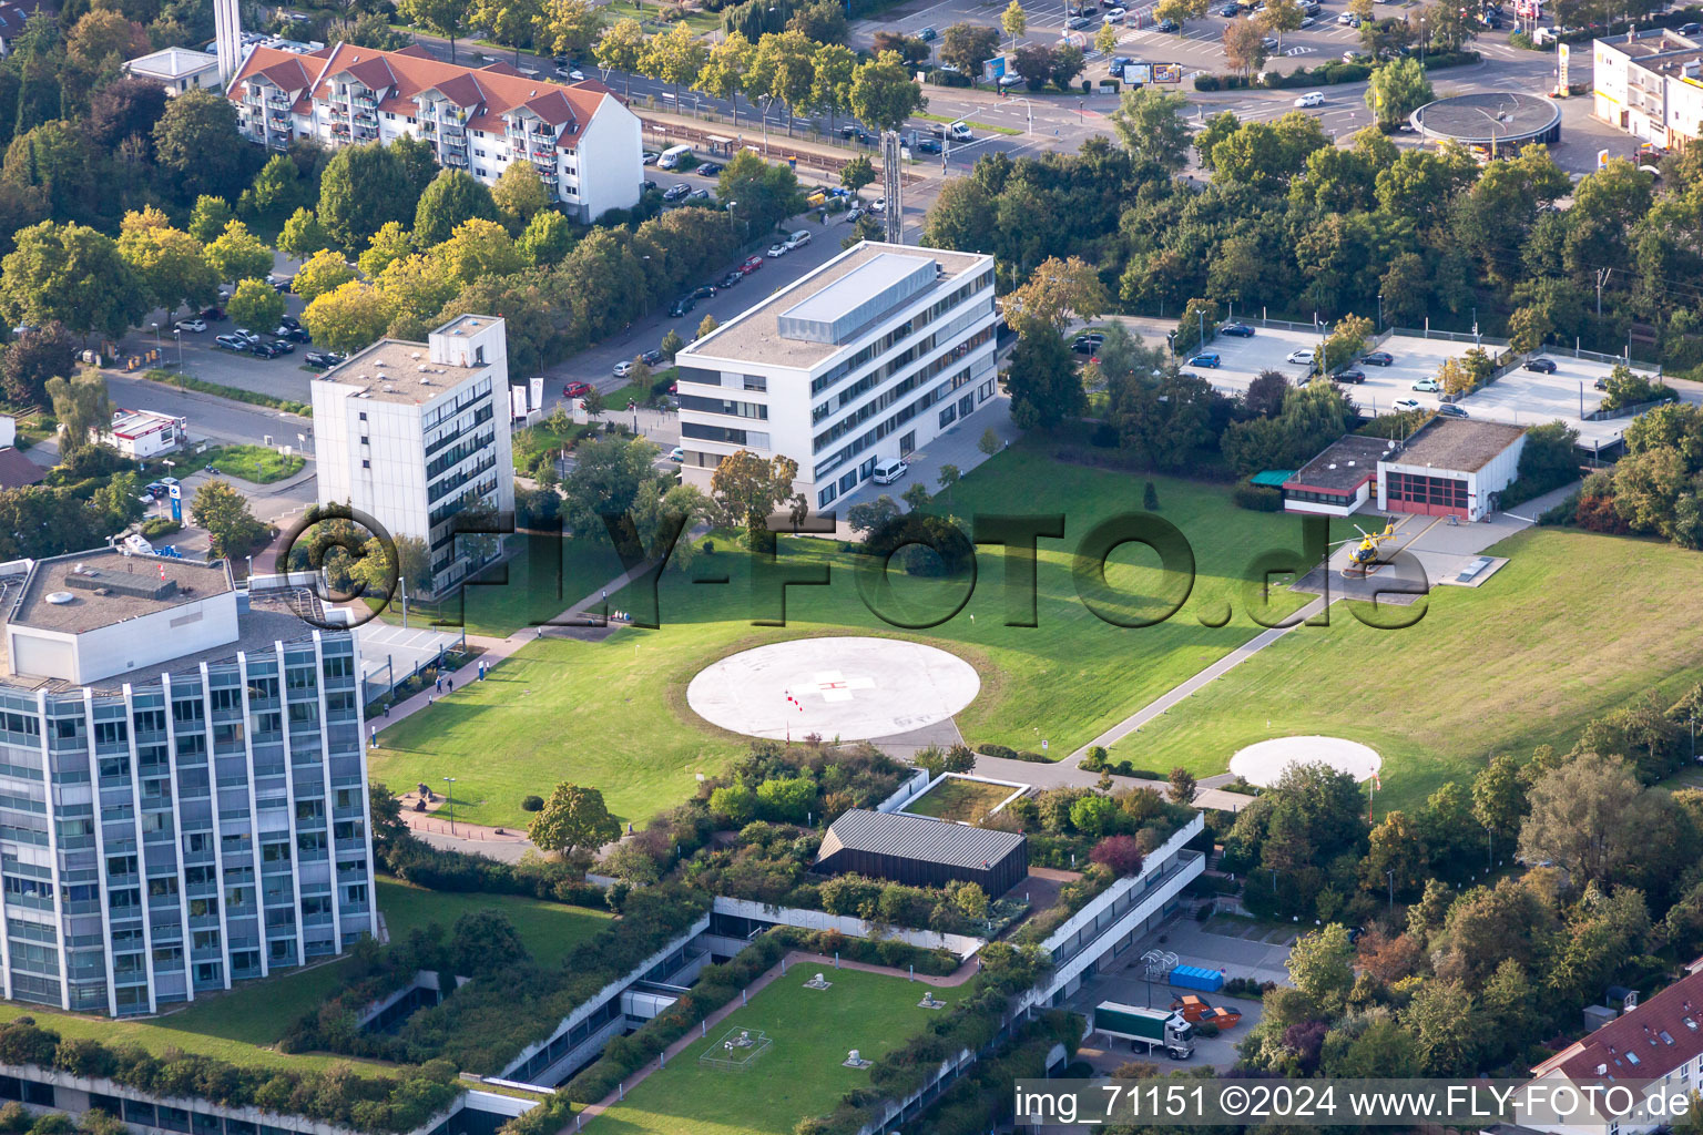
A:
<svg viewBox="0 0 1703 1135">
<path fill-rule="evenodd" d="M 308 58 L 322 60 L 317 73 L 312 65 L 305 63 Z M 366 87 L 388 95 L 380 100 L 380 111 L 412 117 L 417 112 L 414 99 L 422 92 L 438 90 L 463 109 L 482 107 L 482 112 L 468 117 L 467 126 L 490 133 L 502 133 L 506 128 L 502 116 L 525 106 L 550 126 L 562 128 L 559 138 L 562 145 L 574 145 L 603 100 L 615 99 L 608 87 L 589 78 L 577 83 L 552 83 L 521 75 L 506 63 L 472 68 L 431 58 L 417 46 L 404 51 L 378 51 L 346 43 L 332 44 L 313 56 L 255 48 L 244 61 L 237 83 L 284 61 L 295 61 L 307 68 L 310 94 L 315 99 L 327 95 L 325 85 L 332 77 L 347 73 Z M 233 83 L 232 92 L 235 90 Z M 300 107 L 298 112 L 301 112 Z"/>
</svg>

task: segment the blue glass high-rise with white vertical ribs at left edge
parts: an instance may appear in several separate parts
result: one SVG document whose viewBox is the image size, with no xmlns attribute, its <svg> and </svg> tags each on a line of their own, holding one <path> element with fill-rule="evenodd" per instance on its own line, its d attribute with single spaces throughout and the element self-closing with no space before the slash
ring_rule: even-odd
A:
<svg viewBox="0 0 1703 1135">
<path fill-rule="evenodd" d="M 349 631 L 111 548 L 0 565 L 0 614 L 7 997 L 153 1012 L 375 933 Z"/>
</svg>

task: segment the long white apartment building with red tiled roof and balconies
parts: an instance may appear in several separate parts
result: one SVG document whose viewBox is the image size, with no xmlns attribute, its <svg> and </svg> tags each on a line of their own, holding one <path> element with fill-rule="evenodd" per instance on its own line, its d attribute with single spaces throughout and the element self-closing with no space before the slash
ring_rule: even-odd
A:
<svg viewBox="0 0 1703 1135">
<path fill-rule="evenodd" d="M 226 95 L 242 133 L 274 150 L 291 138 L 344 146 L 412 134 L 439 165 L 487 185 L 526 162 L 581 221 L 632 208 L 644 187 L 639 117 L 596 80 L 552 83 L 507 63 L 443 63 L 421 48 L 255 46 Z"/>
</svg>

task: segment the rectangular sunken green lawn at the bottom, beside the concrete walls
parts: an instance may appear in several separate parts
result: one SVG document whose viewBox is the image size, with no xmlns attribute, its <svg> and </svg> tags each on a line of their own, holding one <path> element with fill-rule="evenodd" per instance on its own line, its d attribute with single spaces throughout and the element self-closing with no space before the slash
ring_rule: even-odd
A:
<svg viewBox="0 0 1703 1135">
<path fill-rule="evenodd" d="M 833 1111 L 848 1091 L 869 1086 L 869 1069 L 841 1065 L 852 1048 L 865 1060 L 880 1060 L 945 1012 L 920 1009 L 916 1002 L 926 985 L 899 977 L 824 968 L 833 987 L 804 989 L 817 968 L 790 967 L 785 977 L 751 997 L 749 1006 L 712 1026 L 708 1036 L 605 1111 L 596 1120 L 598 1130 L 605 1135 L 790 1135 L 799 1120 Z M 933 992 L 950 1004 L 960 989 Z M 744 1072 L 698 1064 L 729 1029 L 763 1031 L 773 1043 Z"/>
</svg>

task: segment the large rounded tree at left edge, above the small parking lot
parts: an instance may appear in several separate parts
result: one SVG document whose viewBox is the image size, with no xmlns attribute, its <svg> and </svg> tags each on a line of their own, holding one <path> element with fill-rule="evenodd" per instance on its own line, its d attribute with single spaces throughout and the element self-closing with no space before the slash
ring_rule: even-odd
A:
<svg viewBox="0 0 1703 1135">
<path fill-rule="evenodd" d="M 0 310 L 12 327 L 63 323 L 78 335 L 123 335 L 148 301 L 118 242 L 82 225 L 41 221 L 0 260 Z"/>
</svg>

